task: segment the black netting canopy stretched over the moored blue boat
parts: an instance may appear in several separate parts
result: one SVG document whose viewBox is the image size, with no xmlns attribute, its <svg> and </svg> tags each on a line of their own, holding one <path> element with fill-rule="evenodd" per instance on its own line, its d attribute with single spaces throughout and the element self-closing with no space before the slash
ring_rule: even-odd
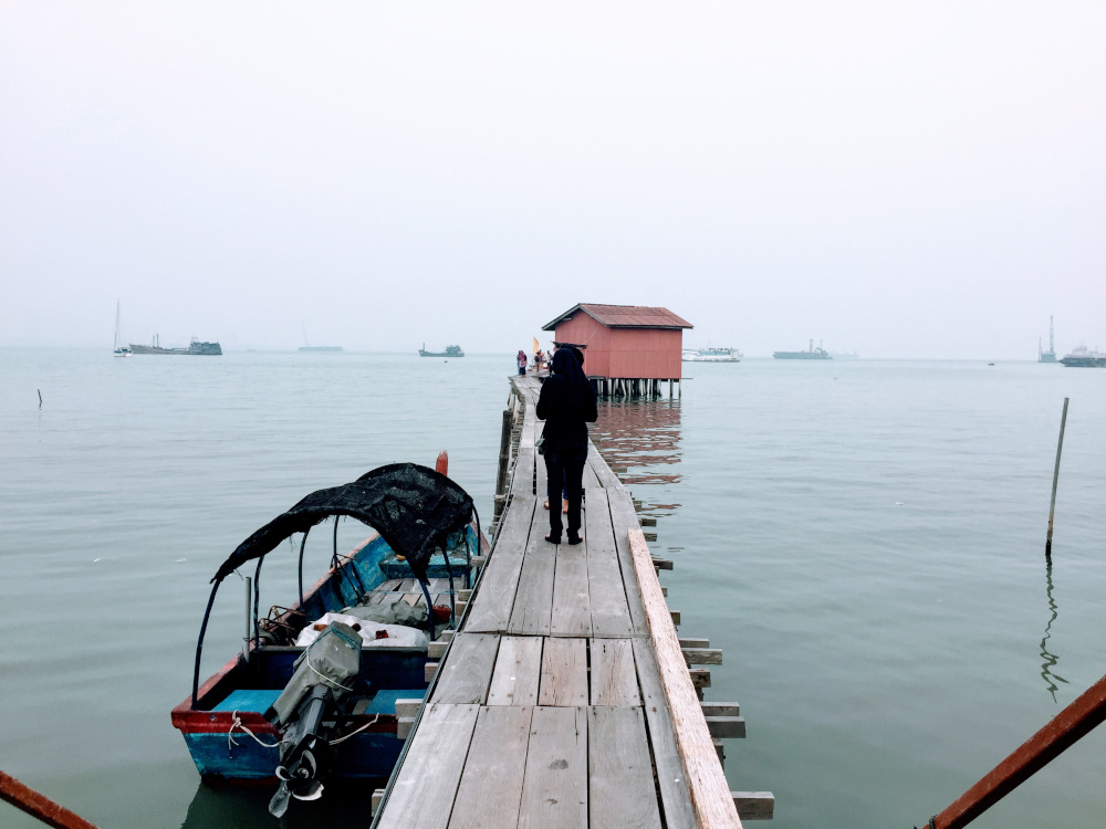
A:
<svg viewBox="0 0 1106 829">
<path fill-rule="evenodd" d="M 289 536 L 305 533 L 332 515 L 349 515 L 373 527 L 411 571 L 426 580 L 435 548 L 472 521 L 472 499 L 432 469 L 393 463 L 366 472 L 353 483 L 319 490 L 255 532 L 236 549 L 211 581 L 221 581 L 242 564 L 268 555 Z"/>
</svg>

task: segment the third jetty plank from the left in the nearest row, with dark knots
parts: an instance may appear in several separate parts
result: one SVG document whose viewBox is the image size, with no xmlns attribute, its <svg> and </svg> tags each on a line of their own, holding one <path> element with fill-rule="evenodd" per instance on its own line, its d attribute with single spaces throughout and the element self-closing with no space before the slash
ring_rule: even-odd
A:
<svg viewBox="0 0 1106 829">
<path fill-rule="evenodd" d="M 586 829 L 585 709 L 534 709 L 519 829 Z"/>
</svg>

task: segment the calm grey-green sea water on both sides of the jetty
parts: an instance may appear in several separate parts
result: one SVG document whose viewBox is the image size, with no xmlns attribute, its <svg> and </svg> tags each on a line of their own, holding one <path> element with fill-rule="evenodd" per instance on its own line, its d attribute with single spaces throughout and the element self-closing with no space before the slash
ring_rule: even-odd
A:
<svg viewBox="0 0 1106 829">
<path fill-rule="evenodd" d="M 169 724 L 208 579 L 307 492 L 441 449 L 490 516 L 512 363 L 0 349 L 0 768 L 102 827 L 276 823 L 268 793 L 201 786 Z M 1106 672 L 1106 371 L 685 368 L 682 399 L 607 405 L 594 433 L 657 517 L 682 632 L 724 650 L 708 699 L 749 722 L 727 775 L 775 794 L 774 826 L 920 825 Z M 263 606 L 292 565 L 267 564 Z M 239 647 L 236 584 L 205 675 Z M 978 826 L 1106 825 L 1104 748 L 1084 738 Z M 280 825 L 356 814 L 330 795 Z M 38 825 L 0 804 L 0 826 Z"/>
</svg>

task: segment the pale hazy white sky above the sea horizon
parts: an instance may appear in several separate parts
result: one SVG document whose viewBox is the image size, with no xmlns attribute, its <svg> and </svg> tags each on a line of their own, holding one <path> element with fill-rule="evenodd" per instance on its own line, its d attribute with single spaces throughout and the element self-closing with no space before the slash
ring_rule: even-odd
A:
<svg viewBox="0 0 1106 829">
<path fill-rule="evenodd" d="M 0 0 L 0 345 L 1106 348 L 1103 2 Z"/>
</svg>

